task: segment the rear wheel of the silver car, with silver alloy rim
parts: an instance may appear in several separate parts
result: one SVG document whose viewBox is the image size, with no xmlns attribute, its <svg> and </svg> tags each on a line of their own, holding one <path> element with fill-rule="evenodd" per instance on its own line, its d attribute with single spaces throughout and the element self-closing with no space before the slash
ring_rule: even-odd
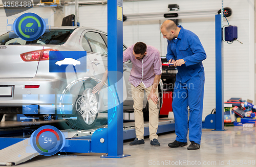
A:
<svg viewBox="0 0 256 167">
<path fill-rule="evenodd" d="M 62 117 L 77 117 L 77 120 L 67 119 L 63 126 L 65 129 L 88 130 L 93 129 L 97 121 L 99 110 L 98 94 L 93 94 L 94 81 L 84 81 L 77 99 L 73 104 L 72 115 L 62 114 Z M 74 94 L 73 94 L 74 96 Z"/>
</svg>

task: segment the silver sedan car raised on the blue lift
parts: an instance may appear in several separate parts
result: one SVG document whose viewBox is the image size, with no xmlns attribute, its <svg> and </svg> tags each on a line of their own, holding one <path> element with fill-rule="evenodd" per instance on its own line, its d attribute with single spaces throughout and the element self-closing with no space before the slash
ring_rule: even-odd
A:
<svg viewBox="0 0 256 167">
<path fill-rule="evenodd" d="M 80 53 L 77 51 L 87 52 L 74 60 L 81 64 L 67 64 L 73 61 L 65 55 L 56 56 L 57 52 L 51 51 L 70 53 L 71 58 Z M 57 58 L 66 64 L 56 63 Z M 62 69 L 55 70 L 51 62 L 61 65 Z M 128 81 L 132 65 L 131 62 L 123 63 L 124 112 L 133 112 L 131 83 Z M 79 66 L 85 66 L 85 71 L 79 71 Z M 65 128 L 91 129 L 106 124 L 106 118 L 103 117 L 108 111 L 108 82 L 104 83 L 99 93 L 94 94 L 92 90 L 102 81 L 107 66 L 108 36 L 100 30 L 54 27 L 34 41 L 23 40 L 14 32 L 1 35 L 0 121 L 3 114 L 19 113 L 26 116 L 58 115 L 59 118 L 65 118 Z M 159 111 L 162 106 L 162 90 L 160 81 Z M 143 110 L 147 116 L 145 120 L 148 120 L 146 98 Z"/>
</svg>

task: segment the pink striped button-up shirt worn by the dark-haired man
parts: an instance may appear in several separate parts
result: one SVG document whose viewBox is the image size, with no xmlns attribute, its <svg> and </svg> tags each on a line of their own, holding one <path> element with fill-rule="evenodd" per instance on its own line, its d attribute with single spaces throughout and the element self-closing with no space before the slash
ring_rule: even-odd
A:
<svg viewBox="0 0 256 167">
<path fill-rule="evenodd" d="M 141 82 L 145 88 L 150 87 L 154 83 L 155 75 L 162 74 L 160 53 L 156 47 L 147 45 L 147 54 L 142 59 L 135 59 L 133 47 L 134 44 L 123 52 L 123 63 L 128 60 L 133 63 L 129 81 L 135 87 Z"/>
</svg>

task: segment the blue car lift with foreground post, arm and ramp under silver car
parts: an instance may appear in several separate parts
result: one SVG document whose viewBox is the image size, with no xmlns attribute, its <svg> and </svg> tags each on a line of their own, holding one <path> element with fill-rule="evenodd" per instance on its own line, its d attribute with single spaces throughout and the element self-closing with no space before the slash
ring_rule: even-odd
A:
<svg viewBox="0 0 256 167">
<path fill-rule="evenodd" d="M 108 1 L 108 81 L 111 91 L 108 91 L 108 128 L 94 131 L 91 139 L 76 137 L 66 139 L 66 145 L 60 152 L 69 153 L 106 153 L 101 157 L 122 158 L 130 155 L 123 154 L 123 139 L 135 138 L 135 128 L 123 129 L 123 82 L 122 82 L 122 0 Z M 159 124 L 158 133 L 174 131 L 173 121 Z M 4 132 L 9 133 L 9 132 Z M 0 133 L 1 134 L 1 133 Z M 7 134 L 5 134 L 7 135 Z M 145 126 L 145 134 L 148 126 Z M 12 165 L 25 162 L 39 153 L 30 146 L 30 138 L 0 137 L 0 165 Z M 9 147 L 10 146 L 10 147 Z M 4 152 L 2 156 L 2 153 Z"/>
</svg>

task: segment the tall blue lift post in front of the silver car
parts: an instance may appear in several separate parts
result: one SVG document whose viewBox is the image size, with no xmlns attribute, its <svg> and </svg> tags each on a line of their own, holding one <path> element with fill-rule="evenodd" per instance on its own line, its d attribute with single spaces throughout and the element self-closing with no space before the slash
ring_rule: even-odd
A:
<svg viewBox="0 0 256 167">
<path fill-rule="evenodd" d="M 123 155 L 123 1 L 108 1 L 108 81 L 115 85 L 116 101 L 108 91 L 108 156 Z M 114 108 L 114 109 L 113 109 Z"/>
</svg>

